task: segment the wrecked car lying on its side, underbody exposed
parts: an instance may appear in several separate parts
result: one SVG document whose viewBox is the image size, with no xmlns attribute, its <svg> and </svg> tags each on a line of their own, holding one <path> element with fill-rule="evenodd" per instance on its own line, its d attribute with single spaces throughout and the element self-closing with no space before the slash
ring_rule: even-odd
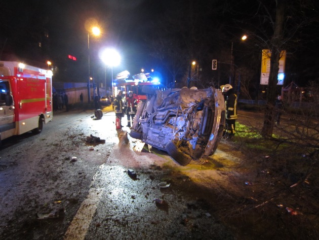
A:
<svg viewBox="0 0 319 240">
<path fill-rule="evenodd" d="M 180 165 L 203 163 L 214 154 L 225 125 L 225 102 L 215 88 L 169 89 L 143 87 L 130 132 L 132 138 L 165 150 Z"/>
</svg>

